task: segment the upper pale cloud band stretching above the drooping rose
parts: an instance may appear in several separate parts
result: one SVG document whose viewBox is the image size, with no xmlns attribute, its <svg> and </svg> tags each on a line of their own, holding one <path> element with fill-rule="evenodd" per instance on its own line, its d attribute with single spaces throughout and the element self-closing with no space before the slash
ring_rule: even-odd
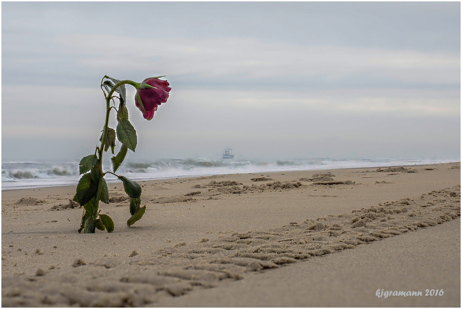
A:
<svg viewBox="0 0 462 309">
<path fill-rule="evenodd" d="M 152 38 L 72 34 L 59 41 L 85 67 L 243 80 L 282 76 L 343 78 L 375 72 L 405 82 L 460 83 L 460 53 L 299 46 L 249 37 Z"/>
</svg>

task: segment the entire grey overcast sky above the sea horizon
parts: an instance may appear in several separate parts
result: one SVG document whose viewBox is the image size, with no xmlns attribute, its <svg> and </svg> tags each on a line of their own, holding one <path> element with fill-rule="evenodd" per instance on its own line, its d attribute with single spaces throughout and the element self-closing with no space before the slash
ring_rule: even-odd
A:
<svg viewBox="0 0 462 309">
<path fill-rule="evenodd" d="M 104 75 L 172 87 L 130 160 L 460 158 L 460 2 L 1 8 L 3 162 L 92 153 Z"/>
</svg>

